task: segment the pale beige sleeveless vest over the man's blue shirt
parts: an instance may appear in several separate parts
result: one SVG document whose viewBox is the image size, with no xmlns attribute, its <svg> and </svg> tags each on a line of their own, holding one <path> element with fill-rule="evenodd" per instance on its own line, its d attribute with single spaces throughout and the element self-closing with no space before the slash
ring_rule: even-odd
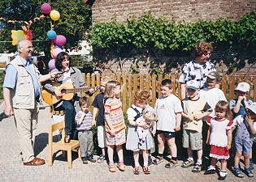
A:
<svg viewBox="0 0 256 182">
<path fill-rule="evenodd" d="M 20 61 L 20 57 L 15 57 L 9 64 L 14 66 L 18 71 L 15 88 L 11 91 L 13 108 L 34 109 L 36 107 L 36 101 L 32 77 L 28 74 L 24 64 Z M 39 71 L 35 66 L 33 66 L 33 68 L 38 78 Z"/>
</svg>

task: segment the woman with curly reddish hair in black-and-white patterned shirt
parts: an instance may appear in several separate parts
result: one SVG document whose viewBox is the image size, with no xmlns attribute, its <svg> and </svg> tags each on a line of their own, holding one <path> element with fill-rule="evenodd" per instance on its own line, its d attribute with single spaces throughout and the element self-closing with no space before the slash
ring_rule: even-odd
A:
<svg viewBox="0 0 256 182">
<path fill-rule="evenodd" d="M 199 88 L 205 87 L 207 75 L 215 71 L 215 65 L 209 62 L 212 52 L 211 43 L 200 41 L 194 46 L 195 59 L 184 64 L 179 78 L 181 99 L 185 98 L 185 85 L 189 80 L 199 83 Z"/>
</svg>

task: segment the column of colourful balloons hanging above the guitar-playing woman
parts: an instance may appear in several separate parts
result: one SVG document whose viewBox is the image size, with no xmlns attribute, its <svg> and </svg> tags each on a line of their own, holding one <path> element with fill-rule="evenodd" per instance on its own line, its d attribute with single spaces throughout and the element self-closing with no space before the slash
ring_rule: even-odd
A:
<svg viewBox="0 0 256 182">
<path fill-rule="evenodd" d="M 43 14 L 50 14 L 50 19 L 57 21 L 60 18 L 59 11 L 51 10 L 51 6 L 48 3 L 43 3 L 41 5 L 41 12 Z M 66 44 L 66 37 L 63 35 L 57 35 L 57 33 L 54 30 L 50 30 L 47 32 L 47 38 L 50 40 L 53 40 L 55 46 L 52 44 L 50 52 L 51 52 L 51 59 L 48 63 L 48 66 L 50 70 L 55 69 L 55 59 L 57 55 L 61 52 L 63 52 L 63 44 Z"/>
</svg>

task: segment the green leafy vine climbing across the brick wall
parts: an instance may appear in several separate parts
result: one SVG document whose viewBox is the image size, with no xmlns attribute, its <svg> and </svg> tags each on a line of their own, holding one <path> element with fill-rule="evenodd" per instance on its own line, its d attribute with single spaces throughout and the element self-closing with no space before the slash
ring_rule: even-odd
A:
<svg viewBox="0 0 256 182">
<path fill-rule="evenodd" d="M 107 23 L 94 23 L 90 28 L 89 40 L 94 50 L 112 49 L 118 53 L 131 45 L 138 49 L 189 51 L 200 40 L 255 44 L 256 10 L 236 22 L 228 19 L 196 23 L 170 22 L 145 13 L 138 19 L 128 19 L 127 23 L 118 23 L 115 19 Z"/>
</svg>

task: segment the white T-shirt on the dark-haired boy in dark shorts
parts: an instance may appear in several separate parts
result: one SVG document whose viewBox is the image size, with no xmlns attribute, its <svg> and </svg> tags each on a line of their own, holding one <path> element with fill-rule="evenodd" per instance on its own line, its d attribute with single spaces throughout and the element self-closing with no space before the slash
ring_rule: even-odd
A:
<svg viewBox="0 0 256 182">
<path fill-rule="evenodd" d="M 154 106 L 157 114 L 157 129 L 174 132 L 176 127 L 176 113 L 182 112 L 181 102 L 176 95 L 159 97 Z"/>
</svg>

